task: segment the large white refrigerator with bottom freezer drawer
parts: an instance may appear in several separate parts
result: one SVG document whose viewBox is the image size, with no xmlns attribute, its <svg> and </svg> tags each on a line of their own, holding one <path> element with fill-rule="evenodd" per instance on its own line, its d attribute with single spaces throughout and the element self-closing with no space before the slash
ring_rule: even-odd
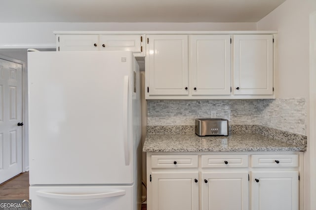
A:
<svg viewBox="0 0 316 210">
<path fill-rule="evenodd" d="M 139 210 L 141 110 L 131 52 L 28 52 L 32 210 Z"/>
</svg>

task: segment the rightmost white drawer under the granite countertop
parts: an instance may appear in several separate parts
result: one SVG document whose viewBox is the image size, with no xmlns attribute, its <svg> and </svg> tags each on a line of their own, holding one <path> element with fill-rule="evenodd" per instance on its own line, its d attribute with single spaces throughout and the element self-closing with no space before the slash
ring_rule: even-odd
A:
<svg viewBox="0 0 316 210">
<path fill-rule="evenodd" d="M 297 154 L 251 155 L 252 167 L 297 167 Z"/>
</svg>

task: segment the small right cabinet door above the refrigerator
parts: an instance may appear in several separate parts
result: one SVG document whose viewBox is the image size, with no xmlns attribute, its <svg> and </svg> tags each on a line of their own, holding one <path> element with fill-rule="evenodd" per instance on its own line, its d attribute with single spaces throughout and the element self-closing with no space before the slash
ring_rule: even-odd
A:
<svg viewBox="0 0 316 210">
<path fill-rule="evenodd" d="M 144 35 L 100 35 L 100 50 L 143 52 Z"/>
</svg>

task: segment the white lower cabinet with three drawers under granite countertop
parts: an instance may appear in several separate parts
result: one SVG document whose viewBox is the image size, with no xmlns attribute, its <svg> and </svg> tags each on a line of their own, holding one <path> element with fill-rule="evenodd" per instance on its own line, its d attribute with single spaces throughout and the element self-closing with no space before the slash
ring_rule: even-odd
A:
<svg viewBox="0 0 316 210">
<path fill-rule="evenodd" d="M 303 210 L 301 166 L 303 152 L 147 153 L 147 210 Z"/>
</svg>

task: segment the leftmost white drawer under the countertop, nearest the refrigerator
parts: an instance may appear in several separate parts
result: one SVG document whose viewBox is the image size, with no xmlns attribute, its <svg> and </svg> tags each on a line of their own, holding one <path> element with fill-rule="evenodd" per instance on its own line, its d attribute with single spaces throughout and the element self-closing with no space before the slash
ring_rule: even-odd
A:
<svg viewBox="0 0 316 210">
<path fill-rule="evenodd" d="M 197 168 L 197 155 L 152 155 L 152 168 Z"/>
</svg>

